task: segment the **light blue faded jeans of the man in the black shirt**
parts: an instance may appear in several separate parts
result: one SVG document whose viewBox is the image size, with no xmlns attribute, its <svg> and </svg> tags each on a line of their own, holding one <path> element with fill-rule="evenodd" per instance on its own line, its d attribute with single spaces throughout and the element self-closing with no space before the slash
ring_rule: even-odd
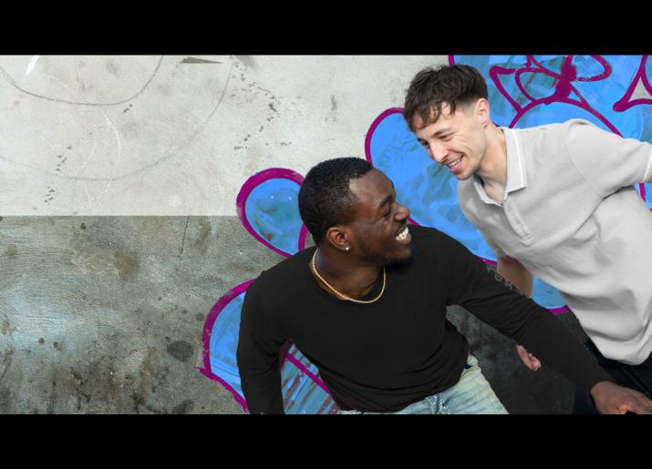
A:
<svg viewBox="0 0 652 469">
<path fill-rule="evenodd" d="M 346 413 L 378 413 L 338 411 Z M 507 413 L 492 386 L 482 376 L 478 360 L 469 354 L 460 381 L 446 391 L 411 403 L 406 408 L 391 413 Z"/>
</svg>

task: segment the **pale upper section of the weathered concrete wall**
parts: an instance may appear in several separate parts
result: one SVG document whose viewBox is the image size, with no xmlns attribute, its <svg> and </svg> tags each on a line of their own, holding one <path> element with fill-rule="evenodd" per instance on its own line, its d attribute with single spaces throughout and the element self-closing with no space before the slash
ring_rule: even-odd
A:
<svg viewBox="0 0 652 469">
<path fill-rule="evenodd" d="M 446 56 L 0 56 L 0 214 L 235 215 L 246 178 L 364 158 Z"/>
</svg>

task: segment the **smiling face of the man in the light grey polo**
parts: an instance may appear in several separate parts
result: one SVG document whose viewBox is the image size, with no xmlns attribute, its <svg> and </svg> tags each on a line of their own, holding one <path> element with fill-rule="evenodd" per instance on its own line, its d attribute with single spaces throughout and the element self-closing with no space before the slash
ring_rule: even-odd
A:
<svg viewBox="0 0 652 469">
<path fill-rule="evenodd" d="M 478 102 L 468 107 L 458 107 L 452 115 L 447 104 L 442 106 L 440 118 L 425 124 L 419 116 L 414 124 L 419 143 L 429 157 L 449 168 L 455 178 L 471 178 L 480 168 L 487 149 L 483 119 Z M 488 115 L 487 115 L 488 118 Z"/>
</svg>

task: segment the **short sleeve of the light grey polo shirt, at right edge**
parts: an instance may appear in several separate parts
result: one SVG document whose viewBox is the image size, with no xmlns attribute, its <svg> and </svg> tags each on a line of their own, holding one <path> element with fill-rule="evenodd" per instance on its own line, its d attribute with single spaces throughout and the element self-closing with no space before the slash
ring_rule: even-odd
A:
<svg viewBox="0 0 652 469">
<path fill-rule="evenodd" d="M 571 119 L 563 128 L 564 144 L 574 167 L 600 196 L 650 178 L 649 143 L 622 138 L 583 119 Z"/>
</svg>

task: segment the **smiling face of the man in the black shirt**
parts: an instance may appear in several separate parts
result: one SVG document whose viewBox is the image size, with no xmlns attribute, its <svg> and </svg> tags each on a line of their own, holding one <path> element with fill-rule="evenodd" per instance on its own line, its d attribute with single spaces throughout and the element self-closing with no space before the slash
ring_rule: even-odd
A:
<svg viewBox="0 0 652 469">
<path fill-rule="evenodd" d="M 349 189 L 359 200 L 355 219 L 349 225 L 355 252 L 377 265 L 409 259 L 409 209 L 396 201 L 396 190 L 389 178 L 374 168 L 362 178 L 352 179 Z"/>
</svg>

